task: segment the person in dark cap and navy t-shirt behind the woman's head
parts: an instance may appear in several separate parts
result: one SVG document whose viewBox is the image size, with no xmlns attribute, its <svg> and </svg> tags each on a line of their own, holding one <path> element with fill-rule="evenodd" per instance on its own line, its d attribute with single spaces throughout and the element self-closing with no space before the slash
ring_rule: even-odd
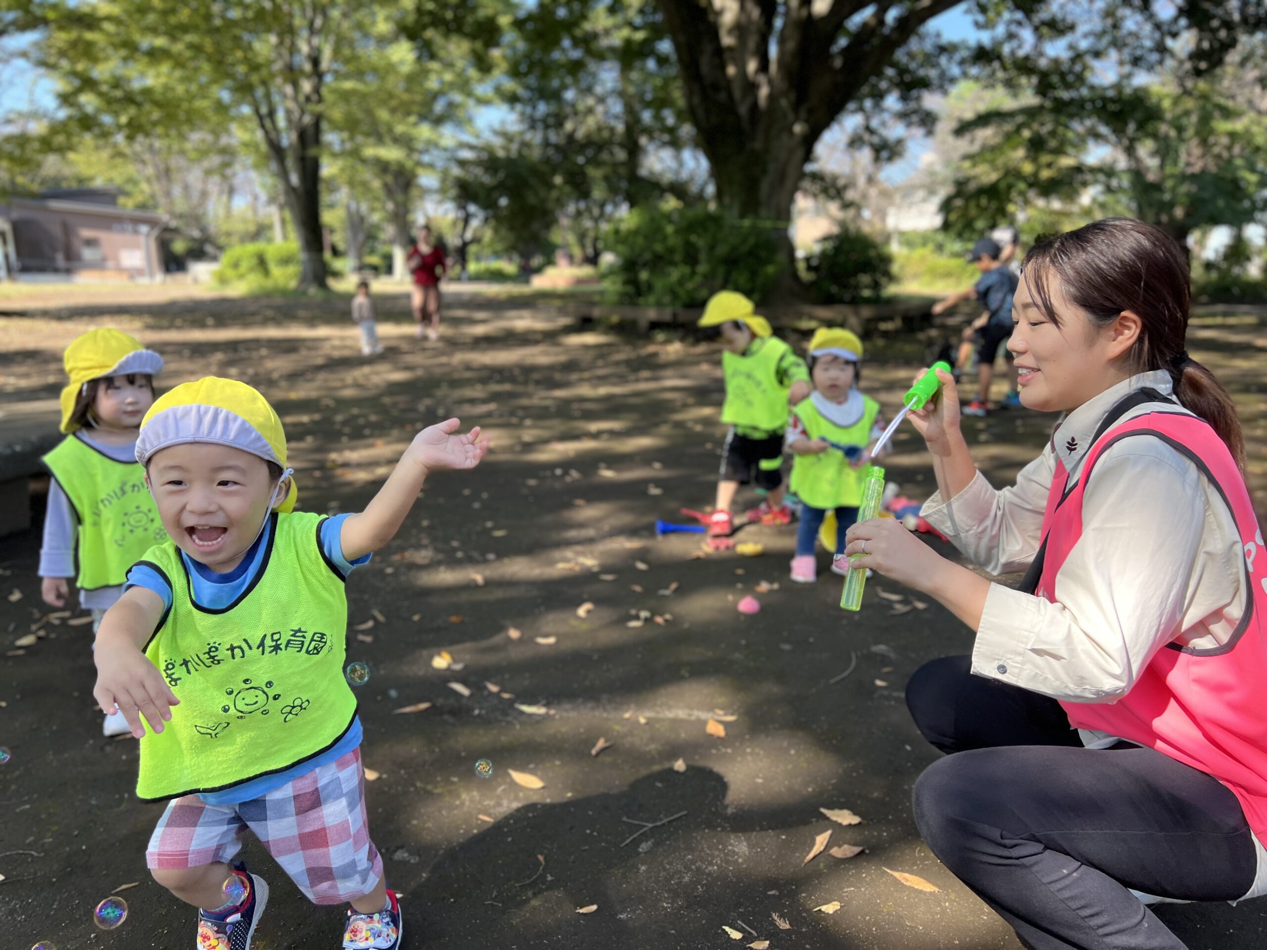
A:
<svg viewBox="0 0 1267 950">
<path fill-rule="evenodd" d="M 1001 261 L 1003 252 L 998 243 L 990 238 L 982 238 L 972 246 L 968 252 L 968 262 L 976 263 L 981 271 L 981 280 L 967 290 L 952 294 L 944 300 L 933 305 L 933 313 L 943 314 L 962 300 L 981 300 L 986 312 L 973 320 L 963 331 L 959 345 L 959 358 L 955 367 L 962 370 L 972 356 L 972 341 L 977 341 L 977 398 L 963 407 L 965 415 L 984 415 L 990 410 L 990 381 L 993 377 L 995 357 L 998 355 L 998 346 L 1006 343 L 1012 336 L 1012 294 L 1016 293 L 1019 280 L 1016 275 Z M 1011 350 L 1005 348 L 1007 357 L 1007 370 L 1011 377 L 1011 389 L 1003 399 L 1006 407 L 1019 407 L 1021 404 L 1020 390 L 1016 388 L 1016 366 Z"/>
</svg>

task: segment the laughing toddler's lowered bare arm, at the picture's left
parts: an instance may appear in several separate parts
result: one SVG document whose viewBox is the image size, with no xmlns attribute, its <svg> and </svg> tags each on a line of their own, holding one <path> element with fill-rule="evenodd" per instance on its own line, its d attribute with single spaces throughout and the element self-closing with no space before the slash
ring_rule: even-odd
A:
<svg viewBox="0 0 1267 950">
<path fill-rule="evenodd" d="M 137 738 L 146 735 L 142 716 L 150 728 L 162 732 L 163 722 L 171 719 L 171 707 L 180 704 L 158 668 L 142 652 L 163 609 L 162 598 L 153 590 L 128 588 L 105 612 L 96 632 L 92 695 L 106 716 L 122 712 Z"/>
</svg>

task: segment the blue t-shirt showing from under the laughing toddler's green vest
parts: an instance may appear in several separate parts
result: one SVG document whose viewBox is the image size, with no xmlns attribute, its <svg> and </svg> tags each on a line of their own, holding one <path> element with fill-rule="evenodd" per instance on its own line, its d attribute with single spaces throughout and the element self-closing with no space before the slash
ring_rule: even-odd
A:
<svg viewBox="0 0 1267 950">
<path fill-rule="evenodd" d="M 347 514 L 336 514 L 333 518 L 327 518 L 321 523 L 322 551 L 326 554 L 326 559 L 338 567 L 340 574 L 345 578 L 352 573 L 353 567 L 369 564 L 370 557 L 372 557 L 372 555 L 365 555 L 364 557 L 357 557 L 355 561 L 348 561 L 343 557 L 343 545 L 340 540 L 340 532 L 342 531 L 343 521 L 347 517 Z M 246 556 L 242 557 L 242 562 L 228 574 L 217 574 L 205 564 L 199 564 L 188 554 L 181 551 L 180 559 L 185 562 L 185 570 L 189 573 L 194 602 L 199 607 L 207 607 L 214 611 L 222 607 L 228 607 L 237 600 L 237 598 L 247 589 L 247 586 L 255 580 L 255 576 L 260 573 L 260 564 L 264 561 L 264 552 L 269 546 L 269 533 L 271 531 L 272 519 L 270 518 L 265 522 L 264 531 L 260 532 L 260 537 L 257 537 L 255 543 L 247 548 Z M 163 576 L 153 567 L 148 567 L 144 564 L 133 565 L 128 571 L 128 580 L 124 584 L 124 590 L 128 588 L 144 588 L 146 590 L 153 590 L 162 598 L 163 609 L 171 609 L 171 588 L 167 585 Z M 242 802 L 250 802 L 252 798 L 261 798 L 269 792 L 281 788 L 288 782 L 294 782 L 300 775 L 304 775 L 321 765 L 327 765 L 336 759 L 343 757 L 359 745 L 361 745 L 360 716 L 352 719 L 352 725 L 348 727 L 347 732 L 343 733 L 343 737 L 321 755 L 299 763 L 299 765 L 295 765 L 294 768 L 274 773 L 272 775 L 261 775 L 257 779 L 242 782 L 219 792 L 204 792 L 199 795 L 199 798 L 208 804 L 239 804 Z"/>
</svg>

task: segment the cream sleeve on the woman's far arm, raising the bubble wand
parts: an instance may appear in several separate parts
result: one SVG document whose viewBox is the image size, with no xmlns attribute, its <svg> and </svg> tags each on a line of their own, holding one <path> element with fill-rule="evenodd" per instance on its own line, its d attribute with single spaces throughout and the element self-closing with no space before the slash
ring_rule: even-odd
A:
<svg viewBox="0 0 1267 950">
<path fill-rule="evenodd" d="M 1025 570 L 1041 542 L 1043 510 L 1055 472 L 1050 446 L 1016 476 L 1016 484 L 995 490 L 979 471 L 949 502 L 941 493 L 924 503 L 920 514 L 973 564 L 991 574 Z"/>
</svg>

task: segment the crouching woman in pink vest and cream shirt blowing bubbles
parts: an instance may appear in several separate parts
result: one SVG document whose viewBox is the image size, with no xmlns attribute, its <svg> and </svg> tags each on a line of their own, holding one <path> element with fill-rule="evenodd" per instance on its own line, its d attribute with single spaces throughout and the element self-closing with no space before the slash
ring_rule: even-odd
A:
<svg viewBox="0 0 1267 950">
<path fill-rule="evenodd" d="M 992 574 L 1028 567 L 1019 590 L 891 519 L 848 536 L 977 633 L 907 685 L 952 754 L 915 818 L 1036 950 L 1178 950 L 1145 904 L 1267 893 L 1267 554 L 1232 402 L 1183 348 L 1187 275 L 1128 219 L 1030 251 L 1009 347 L 1021 402 L 1066 415 L 1015 485 L 977 471 L 949 376 L 915 419 L 924 517 Z"/>
</svg>

